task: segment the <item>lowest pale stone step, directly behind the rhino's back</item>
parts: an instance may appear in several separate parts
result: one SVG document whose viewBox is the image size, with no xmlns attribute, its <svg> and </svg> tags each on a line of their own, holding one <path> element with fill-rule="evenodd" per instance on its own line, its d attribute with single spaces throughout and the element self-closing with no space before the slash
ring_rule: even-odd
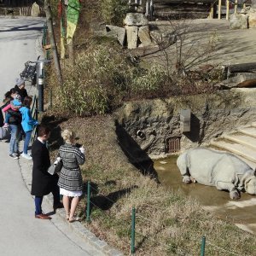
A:
<svg viewBox="0 0 256 256">
<path fill-rule="evenodd" d="M 235 143 L 230 140 L 224 140 L 219 138 L 218 140 L 212 141 L 210 145 L 218 148 L 223 148 L 230 153 L 236 154 L 237 156 L 241 156 L 244 159 L 256 163 L 256 151 L 252 148 L 248 148 L 245 145 L 241 145 L 240 143 Z"/>
</svg>

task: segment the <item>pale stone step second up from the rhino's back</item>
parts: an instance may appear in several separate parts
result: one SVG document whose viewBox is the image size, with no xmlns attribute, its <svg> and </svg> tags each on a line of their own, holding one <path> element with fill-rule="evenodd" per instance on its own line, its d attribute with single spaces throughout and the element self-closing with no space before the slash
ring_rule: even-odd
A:
<svg viewBox="0 0 256 256">
<path fill-rule="evenodd" d="M 256 137 L 251 137 L 250 135 L 235 131 L 224 135 L 223 138 L 256 150 Z"/>
</svg>

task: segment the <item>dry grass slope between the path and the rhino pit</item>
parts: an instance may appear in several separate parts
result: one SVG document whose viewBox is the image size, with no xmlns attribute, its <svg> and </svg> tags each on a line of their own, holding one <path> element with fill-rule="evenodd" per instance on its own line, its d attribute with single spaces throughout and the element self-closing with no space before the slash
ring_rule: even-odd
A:
<svg viewBox="0 0 256 256">
<path fill-rule="evenodd" d="M 137 255 L 198 255 L 201 236 L 207 237 L 207 255 L 229 255 L 218 247 L 254 255 L 255 236 L 137 172 L 119 149 L 110 116 L 69 119 L 59 125 L 77 131 L 79 143 L 86 148 L 83 177 L 94 186 L 91 199 L 98 207 L 92 208 L 90 224 L 84 224 L 96 236 L 128 254 L 131 209 L 136 207 Z M 85 216 L 85 205 L 84 198 L 79 203 L 80 216 Z"/>
</svg>

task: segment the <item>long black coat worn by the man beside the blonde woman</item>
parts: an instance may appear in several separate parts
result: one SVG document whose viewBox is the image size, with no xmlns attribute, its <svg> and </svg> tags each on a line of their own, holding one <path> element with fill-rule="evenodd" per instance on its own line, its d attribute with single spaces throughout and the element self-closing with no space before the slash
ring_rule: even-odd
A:
<svg viewBox="0 0 256 256">
<path fill-rule="evenodd" d="M 36 139 L 32 143 L 32 189 L 31 194 L 36 196 L 48 195 L 57 186 L 58 175 L 50 175 L 47 170 L 50 166 L 49 151 L 45 144 Z"/>
</svg>

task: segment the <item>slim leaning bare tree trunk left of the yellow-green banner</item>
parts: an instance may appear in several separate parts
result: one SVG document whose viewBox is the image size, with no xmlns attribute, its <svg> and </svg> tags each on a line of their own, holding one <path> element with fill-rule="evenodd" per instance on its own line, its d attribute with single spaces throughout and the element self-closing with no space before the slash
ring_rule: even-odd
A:
<svg viewBox="0 0 256 256">
<path fill-rule="evenodd" d="M 55 42 L 55 33 L 52 25 L 52 13 L 50 9 L 49 0 L 44 0 L 44 9 L 46 14 L 46 22 L 48 26 L 50 47 L 52 49 L 52 54 L 55 62 L 55 71 L 56 71 L 57 79 L 59 81 L 59 85 L 61 86 L 63 84 L 63 79 L 61 74 L 60 60 L 59 60 L 58 51 L 57 51 L 56 42 Z"/>
</svg>

